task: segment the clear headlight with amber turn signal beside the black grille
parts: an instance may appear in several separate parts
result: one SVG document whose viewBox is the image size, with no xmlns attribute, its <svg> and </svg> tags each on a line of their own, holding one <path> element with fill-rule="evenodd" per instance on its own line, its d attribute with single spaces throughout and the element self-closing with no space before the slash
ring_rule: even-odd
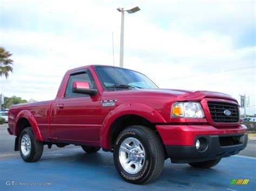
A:
<svg viewBox="0 0 256 191">
<path fill-rule="evenodd" d="M 176 102 L 172 105 L 172 117 L 203 118 L 204 111 L 198 102 Z"/>
</svg>

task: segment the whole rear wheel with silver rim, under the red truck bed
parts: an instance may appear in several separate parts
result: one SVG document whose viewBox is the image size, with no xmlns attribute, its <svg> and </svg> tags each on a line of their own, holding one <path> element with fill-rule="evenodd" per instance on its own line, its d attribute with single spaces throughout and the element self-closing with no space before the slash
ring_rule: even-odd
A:
<svg viewBox="0 0 256 191">
<path fill-rule="evenodd" d="M 31 128 L 25 128 L 19 136 L 19 152 L 26 162 L 36 162 L 42 157 L 44 151 L 43 142 L 35 139 Z"/>
</svg>

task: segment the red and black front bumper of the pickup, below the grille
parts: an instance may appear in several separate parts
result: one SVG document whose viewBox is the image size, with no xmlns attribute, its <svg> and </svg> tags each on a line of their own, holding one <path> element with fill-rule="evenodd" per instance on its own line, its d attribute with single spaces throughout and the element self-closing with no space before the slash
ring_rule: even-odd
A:
<svg viewBox="0 0 256 191">
<path fill-rule="evenodd" d="M 190 163 L 229 157 L 247 145 L 244 125 L 234 128 L 214 128 L 211 125 L 157 125 L 166 154 L 173 163 Z M 203 150 L 196 148 L 204 140 Z"/>
</svg>

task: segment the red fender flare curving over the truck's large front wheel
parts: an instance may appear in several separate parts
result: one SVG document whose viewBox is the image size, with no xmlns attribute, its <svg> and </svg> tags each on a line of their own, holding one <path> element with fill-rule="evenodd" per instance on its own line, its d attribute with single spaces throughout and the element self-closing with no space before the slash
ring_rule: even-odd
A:
<svg viewBox="0 0 256 191">
<path fill-rule="evenodd" d="M 165 119 L 159 112 L 149 105 L 143 103 L 124 103 L 118 105 L 104 119 L 102 128 L 100 129 L 100 146 L 103 148 L 110 148 L 110 133 L 111 125 L 117 118 L 125 115 L 137 115 L 147 119 L 151 123 L 166 123 Z"/>
</svg>

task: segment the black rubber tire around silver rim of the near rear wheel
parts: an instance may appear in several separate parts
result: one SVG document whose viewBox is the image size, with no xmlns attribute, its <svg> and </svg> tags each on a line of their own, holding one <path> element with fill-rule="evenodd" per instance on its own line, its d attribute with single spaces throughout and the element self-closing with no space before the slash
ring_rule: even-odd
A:
<svg viewBox="0 0 256 191">
<path fill-rule="evenodd" d="M 24 155 L 22 151 L 22 138 L 23 136 L 28 136 L 30 138 L 30 152 L 27 155 Z M 21 135 L 19 136 L 19 153 L 21 154 L 22 159 L 25 162 L 36 162 L 41 159 L 44 151 L 44 143 L 39 142 L 35 139 L 33 131 L 30 127 L 25 128 Z"/>
</svg>

